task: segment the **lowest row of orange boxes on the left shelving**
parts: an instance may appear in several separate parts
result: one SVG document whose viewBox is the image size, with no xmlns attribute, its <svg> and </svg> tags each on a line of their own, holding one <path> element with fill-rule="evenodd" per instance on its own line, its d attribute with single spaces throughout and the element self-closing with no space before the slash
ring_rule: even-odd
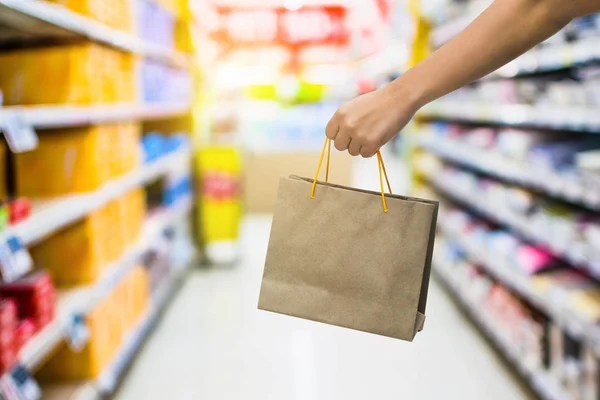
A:
<svg viewBox="0 0 600 400">
<path fill-rule="evenodd" d="M 90 340 L 76 352 L 64 345 L 42 368 L 41 380 L 96 379 L 119 351 L 123 340 L 140 321 L 148 304 L 148 277 L 143 267 L 134 267 L 103 299 L 86 321 Z"/>
</svg>

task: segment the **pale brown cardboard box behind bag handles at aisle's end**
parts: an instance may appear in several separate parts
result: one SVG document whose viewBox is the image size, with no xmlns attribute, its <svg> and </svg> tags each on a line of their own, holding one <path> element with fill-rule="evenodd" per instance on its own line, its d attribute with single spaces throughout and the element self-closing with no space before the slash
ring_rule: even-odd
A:
<svg viewBox="0 0 600 400">
<path fill-rule="evenodd" d="M 320 152 L 249 153 L 244 163 L 244 203 L 249 213 L 272 213 L 277 198 L 279 178 L 289 175 L 314 177 Z M 332 149 L 329 182 L 350 186 L 352 160 L 348 153 Z M 325 161 L 320 180 L 325 180 Z M 310 196 L 310 193 L 306 193 Z"/>
</svg>

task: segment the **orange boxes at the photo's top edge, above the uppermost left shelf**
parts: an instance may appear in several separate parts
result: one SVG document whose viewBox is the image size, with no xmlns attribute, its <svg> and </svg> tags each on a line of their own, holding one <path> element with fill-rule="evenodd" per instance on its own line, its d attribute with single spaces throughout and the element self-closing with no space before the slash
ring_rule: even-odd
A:
<svg viewBox="0 0 600 400">
<path fill-rule="evenodd" d="M 129 0 L 46 0 L 60 4 L 71 11 L 85 15 L 98 22 L 124 30 L 132 31 L 133 9 Z"/>
</svg>

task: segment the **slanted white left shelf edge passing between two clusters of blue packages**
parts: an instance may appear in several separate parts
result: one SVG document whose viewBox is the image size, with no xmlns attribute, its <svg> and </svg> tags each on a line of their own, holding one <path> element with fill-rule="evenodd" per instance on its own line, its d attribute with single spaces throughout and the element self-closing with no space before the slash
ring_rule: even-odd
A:
<svg viewBox="0 0 600 400">
<path fill-rule="evenodd" d="M 32 215 L 11 227 L 9 234 L 19 237 L 25 244 L 35 243 L 129 190 L 167 174 L 174 165 L 179 166 L 188 162 L 190 156 L 189 149 L 179 150 L 108 182 L 94 192 L 67 196 L 34 206 Z"/>
</svg>

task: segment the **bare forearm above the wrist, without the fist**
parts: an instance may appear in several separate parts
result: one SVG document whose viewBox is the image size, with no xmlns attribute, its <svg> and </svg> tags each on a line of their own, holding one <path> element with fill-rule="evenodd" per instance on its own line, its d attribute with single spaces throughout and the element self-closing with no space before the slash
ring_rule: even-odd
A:
<svg viewBox="0 0 600 400">
<path fill-rule="evenodd" d="M 399 101 L 408 96 L 418 109 L 500 68 L 597 6 L 598 0 L 496 0 L 463 32 L 391 85 L 403 97 Z"/>
</svg>

